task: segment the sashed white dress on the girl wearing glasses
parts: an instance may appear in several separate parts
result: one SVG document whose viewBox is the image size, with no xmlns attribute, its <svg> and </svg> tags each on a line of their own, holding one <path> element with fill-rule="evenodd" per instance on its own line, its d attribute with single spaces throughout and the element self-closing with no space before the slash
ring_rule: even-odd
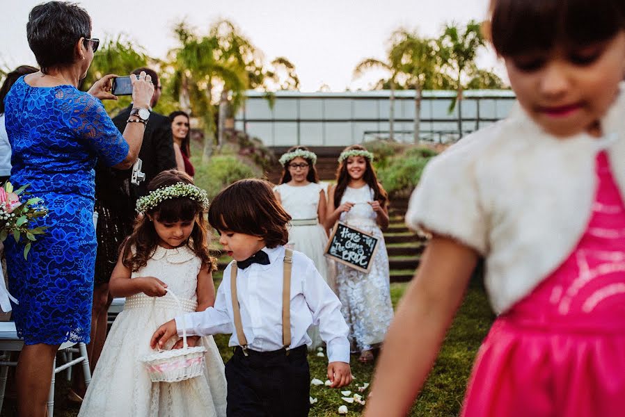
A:
<svg viewBox="0 0 625 417">
<path fill-rule="evenodd" d="M 303 187 L 280 184 L 274 188 L 280 194 L 282 206 L 291 215 L 292 224 L 289 229 L 289 243 L 294 250 L 303 252 L 315 263 L 319 274 L 334 291 L 333 275 L 329 274 L 329 265 L 324 256 L 328 236 L 324 227 L 318 223 L 319 191 L 324 188 L 318 183 L 309 183 Z M 317 220 L 317 224 L 298 224 L 303 220 Z M 317 326 L 308 329 L 312 340 L 309 350 L 315 350 L 323 341 Z"/>
</svg>

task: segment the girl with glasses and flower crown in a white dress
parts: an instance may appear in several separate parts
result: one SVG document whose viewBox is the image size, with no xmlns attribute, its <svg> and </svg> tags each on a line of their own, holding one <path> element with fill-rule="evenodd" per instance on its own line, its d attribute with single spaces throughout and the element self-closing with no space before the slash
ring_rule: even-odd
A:
<svg viewBox="0 0 625 417">
<path fill-rule="evenodd" d="M 333 276 L 324 256 L 328 243 L 324 229 L 326 193 L 317 178 L 316 162 L 317 155 L 306 147 L 289 149 L 280 157 L 284 170 L 280 185 L 274 188 L 274 193 L 292 217 L 288 245 L 312 259 L 319 274 L 334 291 Z M 322 345 L 317 327 L 310 327 L 308 336 L 312 339 L 310 350 Z"/>
</svg>

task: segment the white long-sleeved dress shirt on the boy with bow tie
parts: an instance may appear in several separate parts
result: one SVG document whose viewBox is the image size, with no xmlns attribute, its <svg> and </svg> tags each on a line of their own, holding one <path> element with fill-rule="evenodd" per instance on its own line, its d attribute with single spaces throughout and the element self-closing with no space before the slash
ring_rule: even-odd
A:
<svg viewBox="0 0 625 417">
<path fill-rule="evenodd" d="M 263 248 L 269 265 L 252 263 L 237 272 L 237 293 L 243 332 L 248 348 L 258 352 L 279 350 L 282 344 L 282 286 L 285 248 Z M 223 271 L 215 305 L 205 311 L 184 316 L 187 334 L 232 334 L 230 346 L 238 346 L 232 313 L 230 269 Z M 301 252 L 293 251 L 291 272 L 291 346 L 310 344 L 306 332 L 310 325 L 319 326 L 319 334 L 327 345 L 329 362 L 349 363 L 349 327 L 341 314 L 341 303 L 317 272 L 315 264 Z M 182 336 L 182 316 L 175 318 L 177 332 Z"/>
</svg>

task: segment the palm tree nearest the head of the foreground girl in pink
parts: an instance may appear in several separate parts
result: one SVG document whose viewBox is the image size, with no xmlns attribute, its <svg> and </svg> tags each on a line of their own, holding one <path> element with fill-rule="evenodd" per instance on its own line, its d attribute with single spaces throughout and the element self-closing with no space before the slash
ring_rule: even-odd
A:
<svg viewBox="0 0 625 417">
<path fill-rule="evenodd" d="M 466 27 L 461 28 L 458 24 L 451 23 L 445 26 L 443 35 L 438 39 L 439 57 L 441 58 L 441 68 L 447 71 L 456 83 L 457 97 L 452 103 L 450 111 L 454 105 L 458 105 L 458 132 L 462 137 L 462 79 L 469 76 L 469 72 L 475 70 L 475 56 L 485 44 L 482 35 L 481 24 L 471 20 Z"/>
</svg>

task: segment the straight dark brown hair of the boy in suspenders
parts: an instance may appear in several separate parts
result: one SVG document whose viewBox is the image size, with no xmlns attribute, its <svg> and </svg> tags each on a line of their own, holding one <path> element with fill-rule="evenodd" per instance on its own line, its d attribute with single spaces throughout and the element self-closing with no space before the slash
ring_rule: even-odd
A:
<svg viewBox="0 0 625 417">
<path fill-rule="evenodd" d="M 271 184 L 262 179 L 233 183 L 216 195 L 208 209 L 208 222 L 218 231 L 260 236 L 267 247 L 287 244 L 290 221 Z"/>
</svg>

